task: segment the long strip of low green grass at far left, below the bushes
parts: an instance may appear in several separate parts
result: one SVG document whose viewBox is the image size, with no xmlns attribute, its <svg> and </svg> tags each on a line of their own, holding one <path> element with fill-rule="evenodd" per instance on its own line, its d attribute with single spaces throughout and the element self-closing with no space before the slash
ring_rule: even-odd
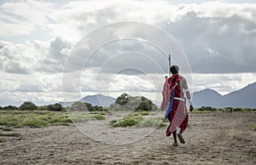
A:
<svg viewBox="0 0 256 165">
<path fill-rule="evenodd" d="M 0 111 L 0 125 L 12 128 L 43 128 L 51 125 L 69 125 L 72 122 L 104 120 L 100 113 L 83 111 Z"/>
</svg>

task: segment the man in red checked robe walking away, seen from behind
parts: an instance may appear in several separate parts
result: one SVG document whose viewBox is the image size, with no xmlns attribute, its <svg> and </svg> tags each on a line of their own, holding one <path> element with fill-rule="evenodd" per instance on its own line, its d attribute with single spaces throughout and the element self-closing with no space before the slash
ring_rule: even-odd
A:
<svg viewBox="0 0 256 165">
<path fill-rule="evenodd" d="M 161 109 L 166 109 L 166 119 L 170 121 L 168 128 L 166 129 L 166 136 L 173 135 L 173 146 L 177 146 L 177 138 L 184 144 L 183 132 L 188 126 L 189 115 L 186 108 L 186 95 L 189 100 L 189 110 L 193 111 L 193 105 L 187 81 L 184 77 L 178 74 L 178 66 L 172 65 L 170 71 L 172 77 L 166 79 L 166 83 L 163 87 L 163 100 L 161 103 Z M 177 128 L 180 128 L 180 132 L 177 134 Z"/>
</svg>

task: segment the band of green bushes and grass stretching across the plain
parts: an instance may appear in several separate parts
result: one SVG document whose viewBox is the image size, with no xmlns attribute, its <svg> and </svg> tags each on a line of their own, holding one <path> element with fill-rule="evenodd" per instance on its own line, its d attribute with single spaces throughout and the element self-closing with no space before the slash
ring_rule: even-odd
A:
<svg viewBox="0 0 256 165">
<path fill-rule="evenodd" d="M 54 125 L 69 125 L 72 122 L 86 122 L 89 120 L 104 120 L 111 111 L 131 111 L 123 119 L 110 122 L 112 127 L 162 127 L 166 126 L 164 117 L 144 117 L 160 109 L 151 100 L 141 96 L 133 97 L 121 94 L 115 103 L 109 107 L 94 106 L 90 103 L 76 101 L 73 105 L 62 107 L 61 104 L 35 105 L 26 101 L 19 107 L 14 105 L 0 106 L 0 126 L 6 128 L 0 131 L 12 131 L 12 128 L 42 128 Z M 192 113 L 210 112 L 254 112 L 256 109 L 232 108 L 224 109 L 202 106 Z M 1 128 L 1 127 L 0 127 Z M 256 130 L 256 126 L 252 128 Z"/>
</svg>

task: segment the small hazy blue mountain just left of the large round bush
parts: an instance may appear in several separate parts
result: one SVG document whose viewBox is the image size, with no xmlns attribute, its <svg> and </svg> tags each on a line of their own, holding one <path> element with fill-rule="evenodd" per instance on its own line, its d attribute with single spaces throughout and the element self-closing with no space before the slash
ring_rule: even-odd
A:
<svg viewBox="0 0 256 165">
<path fill-rule="evenodd" d="M 85 96 L 83 99 L 79 101 L 87 102 L 87 103 L 90 103 L 91 105 L 109 106 L 115 102 L 115 99 L 113 99 L 113 97 L 110 97 L 110 96 L 96 94 L 96 95 Z"/>
</svg>

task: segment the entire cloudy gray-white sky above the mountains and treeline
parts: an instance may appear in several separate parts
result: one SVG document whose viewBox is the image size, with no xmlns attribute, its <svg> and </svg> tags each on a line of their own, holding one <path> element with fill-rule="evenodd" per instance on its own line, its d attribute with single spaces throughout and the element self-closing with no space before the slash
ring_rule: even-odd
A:
<svg viewBox="0 0 256 165">
<path fill-rule="evenodd" d="M 166 54 L 189 88 L 256 82 L 256 1 L 1 0 L 0 105 L 143 94 L 159 103 Z"/>
</svg>

